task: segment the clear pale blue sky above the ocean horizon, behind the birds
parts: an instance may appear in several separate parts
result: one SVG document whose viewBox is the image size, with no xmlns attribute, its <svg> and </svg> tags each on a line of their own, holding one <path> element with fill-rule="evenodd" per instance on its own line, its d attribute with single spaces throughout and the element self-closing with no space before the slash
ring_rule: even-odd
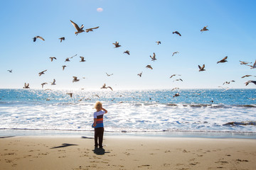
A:
<svg viewBox="0 0 256 170">
<path fill-rule="evenodd" d="M 255 1 L 45 0 L 1 1 L 0 6 L 1 89 L 21 89 L 25 82 L 31 89 L 41 89 L 43 82 L 48 82 L 44 89 L 100 89 L 105 83 L 113 89 L 256 87 L 245 86 L 256 77 L 241 79 L 256 76 L 256 69 L 239 62 L 256 60 Z M 76 36 L 70 20 L 84 29 L 100 28 Z M 201 33 L 204 26 L 209 30 Z M 181 37 L 172 34 L 175 30 Z M 33 42 L 36 35 L 45 41 Z M 122 47 L 114 48 L 115 41 Z M 123 54 L 126 50 L 131 55 Z M 153 52 L 155 62 L 149 57 Z M 217 64 L 225 56 L 228 62 Z M 63 64 L 68 66 L 64 71 Z M 198 72 L 198 64 L 206 64 L 206 72 Z M 169 79 L 172 74 L 181 76 Z M 80 81 L 73 83 L 73 76 Z"/>
</svg>

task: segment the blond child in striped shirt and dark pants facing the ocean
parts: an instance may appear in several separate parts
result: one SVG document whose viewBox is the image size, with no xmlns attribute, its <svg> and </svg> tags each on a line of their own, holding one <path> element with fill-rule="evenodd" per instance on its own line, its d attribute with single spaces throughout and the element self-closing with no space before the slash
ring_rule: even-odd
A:
<svg viewBox="0 0 256 170">
<path fill-rule="evenodd" d="M 103 125 L 103 115 L 107 113 L 105 108 L 102 108 L 102 103 L 97 101 L 95 103 L 96 112 L 93 113 L 94 122 L 92 128 L 95 128 L 95 147 L 102 148 L 102 140 L 103 140 L 103 133 L 104 133 L 104 125 Z M 99 139 L 99 144 L 97 142 Z"/>
</svg>

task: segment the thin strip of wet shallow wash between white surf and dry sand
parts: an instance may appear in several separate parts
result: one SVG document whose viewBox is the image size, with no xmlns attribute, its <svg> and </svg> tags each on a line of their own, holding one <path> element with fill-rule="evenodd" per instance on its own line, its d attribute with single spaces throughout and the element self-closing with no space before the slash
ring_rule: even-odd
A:
<svg viewBox="0 0 256 170">
<path fill-rule="evenodd" d="M 234 138 L 234 139 L 256 139 L 256 132 L 215 132 L 215 131 L 159 131 L 159 132 L 108 132 L 107 137 L 192 137 L 192 138 Z M 3 136 L 63 136 L 79 137 L 94 136 L 93 130 L 28 130 L 28 129 L 0 129 L 0 137 Z"/>
</svg>

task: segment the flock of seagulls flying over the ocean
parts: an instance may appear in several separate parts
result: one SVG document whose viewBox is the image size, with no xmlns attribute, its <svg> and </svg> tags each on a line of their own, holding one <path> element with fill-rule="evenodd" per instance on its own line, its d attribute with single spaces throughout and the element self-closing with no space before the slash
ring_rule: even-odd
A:
<svg viewBox="0 0 256 170">
<path fill-rule="evenodd" d="M 74 26 L 74 28 L 75 28 L 75 30 L 76 30 L 76 31 L 75 31 L 75 35 L 78 35 L 79 33 L 83 33 L 83 32 L 88 33 L 88 32 L 90 32 L 90 31 L 93 31 L 93 30 L 99 28 L 99 26 L 97 26 L 97 27 L 95 27 L 95 28 L 87 28 L 87 29 L 83 30 L 83 28 L 84 28 L 83 25 L 81 25 L 81 26 L 79 27 L 78 24 L 74 23 L 73 21 L 70 20 L 70 22 L 72 23 L 72 25 Z M 208 26 L 203 27 L 203 28 L 200 30 L 201 33 L 203 33 L 204 31 L 208 31 L 208 28 L 207 28 L 207 27 L 208 27 Z M 174 31 L 173 34 L 176 34 L 176 35 L 178 35 L 178 36 L 181 36 L 181 33 L 179 33 L 177 30 Z M 44 41 L 44 38 L 38 35 L 38 36 L 35 36 L 35 37 L 33 38 L 33 42 L 36 42 L 37 39 L 40 39 L 40 40 L 43 40 L 43 41 Z M 58 39 L 60 40 L 60 42 L 62 42 L 63 40 L 65 40 L 65 37 L 58 38 Z M 121 45 L 119 45 L 119 42 L 117 42 L 117 41 L 116 41 L 116 42 L 113 42 L 112 44 L 114 45 L 114 48 L 121 47 Z M 157 44 L 157 45 L 161 45 L 161 41 L 156 41 L 156 44 Z M 126 50 L 126 51 L 124 51 L 123 53 L 124 53 L 124 54 L 127 54 L 127 55 L 130 55 L 129 50 Z M 177 53 L 178 53 L 178 51 L 173 52 L 172 56 L 176 55 Z M 66 58 L 66 59 L 65 59 L 65 62 L 70 62 L 70 59 L 72 59 L 72 58 L 75 57 L 75 56 L 77 56 L 77 55 L 74 55 L 74 56 L 72 56 L 72 57 Z M 152 55 L 152 56 L 150 55 L 149 57 L 151 58 L 151 61 L 153 61 L 153 62 L 156 61 L 156 54 L 155 54 L 155 53 L 153 53 L 153 55 Z M 50 61 L 51 61 L 51 62 L 53 62 L 53 60 L 57 60 L 56 57 L 49 57 L 49 58 L 50 58 Z M 218 64 L 218 63 L 228 62 L 227 59 L 228 59 L 228 56 L 226 56 L 226 57 L 224 57 L 222 60 L 218 61 L 217 64 Z M 85 57 L 80 56 L 80 62 L 86 62 Z M 244 64 L 244 65 L 250 67 L 251 69 L 255 69 L 255 68 L 256 68 L 256 61 L 255 61 L 254 64 L 249 65 L 249 64 L 251 64 L 251 63 L 252 63 L 252 62 L 242 62 L 242 61 L 240 61 L 240 64 Z M 65 67 L 67 67 L 67 66 L 66 66 L 66 65 L 63 65 L 62 67 L 63 67 L 63 70 L 64 70 Z M 205 64 L 203 64 L 202 66 L 198 65 L 199 72 L 206 71 L 205 67 L 206 67 Z M 153 68 L 151 67 L 151 64 L 146 65 L 146 68 L 148 68 L 148 69 L 153 69 Z M 7 70 L 7 71 L 10 72 L 10 73 L 13 72 L 12 69 L 9 69 L 9 70 Z M 47 69 L 44 70 L 44 71 L 42 71 L 42 72 L 39 72 L 39 73 L 38 73 L 39 77 L 40 77 L 42 74 L 45 74 L 45 72 L 47 72 Z M 140 72 L 140 73 L 137 74 L 137 75 L 138 75 L 139 77 L 142 77 L 142 73 L 143 73 L 143 72 Z M 106 74 L 107 74 L 107 73 L 106 73 Z M 113 74 L 107 74 L 107 77 L 110 77 L 110 76 L 112 76 L 112 75 L 113 75 Z M 175 77 L 175 76 L 181 76 L 181 75 L 180 75 L 180 74 L 173 74 L 173 75 L 171 75 L 171 77 L 169 77 L 169 78 L 171 79 L 172 77 Z M 245 76 L 243 76 L 243 77 L 241 77 L 241 78 L 245 78 L 245 77 L 252 77 L 252 75 L 245 75 Z M 254 77 L 255 77 L 255 76 L 254 76 Z M 74 83 L 74 82 L 78 82 L 78 81 L 80 81 L 80 79 L 78 79 L 78 77 L 73 77 L 73 83 Z M 183 81 L 183 80 L 182 80 L 182 79 L 175 79 L 174 81 Z M 232 80 L 232 81 L 225 81 L 225 82 L 223 83 L 223 85 L 224 85 L 224 84 L 230 84 L 230 82 L 235 82 L 235 81 L 234 81 L 234 80 Z M 246 82 L 245 82 L 245 85 L 247 86 L 247 85 L 250 84 L 250 83 L 256 84 L 256 81 L 252 81 L 252 80 L 246 81 Z M 47 82 L 42 83 L 42 84 L 41 84 L 42 88 L 43 88 L 43 86 L 46 85 L 46 84 L 48 84 L 48 83 L 47 83 Z M 53 82 L 50 82 L 50 84 L 51 84 L 51 85 L 56 85 L 56 84 L 55 84 L 55 79 L 53 79 Z M 220 86 L 219 86 L 219 87 L 220 87 Z M 29 89 L 29 88 L 30 88 L 30 87 L 29 87 L 29 84 L 25 83 L 24 86 L 23 86 L 23 89 Z M 111 89 L 111 90 L 113 91 L 112 87 L 111 87 L 111 86 L 107 86 L 106 84 L 103 84 L 100 89 Z M 172 89 L 171 91 L 173 91 L 173 90 L 175 90 L 175 89 L 178 89 L 178 88 L 174 88 L 174 89 Z M 72 93 L 68 93 L 68 95 L 70 95 L 71 98 L 72 98 L 72 96 L 73 96 Z M 179 94 L 177 93 L 177 94 L 175 94 L 173 97 L 176 97 L 176 96 L 179 96 Z"/>
</svg>

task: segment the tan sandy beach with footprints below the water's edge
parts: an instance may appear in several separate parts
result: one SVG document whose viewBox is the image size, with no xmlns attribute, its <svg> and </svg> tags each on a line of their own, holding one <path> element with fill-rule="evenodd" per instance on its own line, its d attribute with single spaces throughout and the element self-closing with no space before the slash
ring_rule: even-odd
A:
<svg viewBox="0 0 256 170">
<path fill-rule="evenodd" d="M 1 169 L 256 169 L 256 140 L 0 137 Z"/>
</svg>

